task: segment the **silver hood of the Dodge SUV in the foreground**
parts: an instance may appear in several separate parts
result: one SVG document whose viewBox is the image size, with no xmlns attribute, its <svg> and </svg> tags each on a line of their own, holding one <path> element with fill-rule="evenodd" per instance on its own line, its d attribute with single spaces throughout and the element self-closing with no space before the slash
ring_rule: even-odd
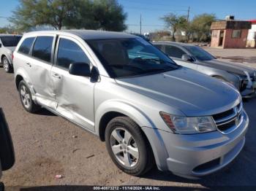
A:
<svg viewBox="0 0 256 191">
<path fill-rule="evenodd" d="M 241 99 L 238 91 L 225 82 L 184 67 L 162 74 L 116 79 L 116 82 L 190 117 L 227 111 Z"/>
</svg>

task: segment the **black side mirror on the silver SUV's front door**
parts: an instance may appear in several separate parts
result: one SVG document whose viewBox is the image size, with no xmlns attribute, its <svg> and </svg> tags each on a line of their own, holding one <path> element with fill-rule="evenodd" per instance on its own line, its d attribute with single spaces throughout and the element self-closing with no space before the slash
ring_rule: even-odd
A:
<svg viewBox="0 0 256 191">
<path fill-rule="evenodd" d="M 69 65 L 69 74 L 80 77 L 90 77 L 90 65 L 89 63 L 71 63 Z"/>
</svg>

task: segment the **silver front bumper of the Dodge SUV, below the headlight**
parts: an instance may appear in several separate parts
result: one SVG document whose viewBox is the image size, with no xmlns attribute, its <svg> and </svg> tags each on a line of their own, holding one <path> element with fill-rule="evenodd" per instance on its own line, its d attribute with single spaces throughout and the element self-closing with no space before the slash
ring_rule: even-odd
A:
<svg viewBox="0 0 256 191">
<path fill-rule="evenodd" d="M 163 130 L 157 130 L 156 134 L 156 129 L 146 135 L 151 136 L 150 142 L 151 138 L 154 140 L 151 146 L 155 144 L 152 149 L 160 170 L 195 179 L 214 173 L 235 159 L 244 147 L 248 125 L 249 119 L 244 112 L 241 125 L 226 135 L 219 131 L 179 135 Z"/>
</svg>

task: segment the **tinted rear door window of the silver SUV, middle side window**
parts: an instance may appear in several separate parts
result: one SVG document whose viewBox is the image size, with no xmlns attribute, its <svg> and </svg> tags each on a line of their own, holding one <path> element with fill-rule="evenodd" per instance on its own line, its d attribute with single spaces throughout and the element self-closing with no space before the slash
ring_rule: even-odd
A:
<svg viewBox="0 0 256 191">
<path fill-rule="evenodd" d="M 32 55 L 42 61 L 50 62 L 53 36 L 38 36 L 34 43 Z"/>
</svg>

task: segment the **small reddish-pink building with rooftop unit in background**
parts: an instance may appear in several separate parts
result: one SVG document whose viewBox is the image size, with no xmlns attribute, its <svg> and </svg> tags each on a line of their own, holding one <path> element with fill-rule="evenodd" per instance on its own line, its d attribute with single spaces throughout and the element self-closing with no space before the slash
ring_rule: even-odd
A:
<svg viewBox="0 0 256 191">
<path fill-rule="evenodd" d="M 213 22 L 211 23 L 211 47 L 245 48 L 251 27 L 251 22 L 234 20 L 233 16 Z"/>
</svg>

